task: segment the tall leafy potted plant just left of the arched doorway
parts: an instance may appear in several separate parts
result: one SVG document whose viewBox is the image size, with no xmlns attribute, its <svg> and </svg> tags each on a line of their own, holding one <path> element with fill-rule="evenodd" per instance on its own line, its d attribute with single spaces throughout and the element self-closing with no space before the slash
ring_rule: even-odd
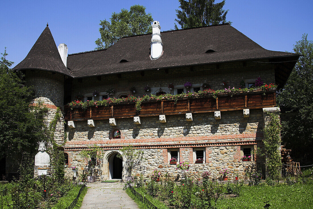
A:
<svg viewBox="0 0 313 209">
<path fill-rule="evenodd" d="M 100 175 L 100 170 L 96 169 L 97 166 L 100 166 L 103 159 L 102 149 L 93 145 L 87 147 L 87 149 L 82 150 L 79 153 L 80 157 L 84 158 L 87 162 L 86 171 L 87 171 L 87 180 L 88 182 L 95 182 L 96 177 Z"/>
</svg>

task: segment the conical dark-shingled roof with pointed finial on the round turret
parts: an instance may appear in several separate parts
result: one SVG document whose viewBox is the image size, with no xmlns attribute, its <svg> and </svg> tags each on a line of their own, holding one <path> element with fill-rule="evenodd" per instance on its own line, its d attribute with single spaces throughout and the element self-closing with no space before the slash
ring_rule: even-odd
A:
<svg viewBox="0 0 313 209">
<path fill-rule="evenodd" d="M 28 55 L 22 62 L 18 63 L 14 70 L 39 69 L 59 72 L 72 76 L 62 62 L 58 48 L 55 44 L 51 31 L 48 27 L 44 29 Z"/>
</svg>

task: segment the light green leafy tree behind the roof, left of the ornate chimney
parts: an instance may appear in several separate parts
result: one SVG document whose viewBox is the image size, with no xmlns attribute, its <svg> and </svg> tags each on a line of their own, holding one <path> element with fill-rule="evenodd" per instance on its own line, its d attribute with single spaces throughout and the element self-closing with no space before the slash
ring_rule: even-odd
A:
<svg viewBox="0 0 313 209">
<path fill-rule="evenodd" d="M 113 12 L 110 21 L 100 20 L 101 38 L 95 41 L 98 46 L 95 49 L 106 49 L 124 36 L 152 32 L 152 16 L 150 13 L 146 14 L 146 7 L 142 5 L 133 5 L 129 11 L 123 8 L 120 13 Z"/>
</svg>

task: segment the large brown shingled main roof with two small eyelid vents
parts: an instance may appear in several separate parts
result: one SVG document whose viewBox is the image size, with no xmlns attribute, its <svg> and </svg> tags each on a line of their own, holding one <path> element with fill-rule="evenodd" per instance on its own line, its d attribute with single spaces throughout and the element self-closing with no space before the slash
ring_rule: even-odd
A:
<svg viewBox="0 0 313 209">
<path fill-rule="evenodd" d="M 151 60 L 151 35 L 126 37 L 102 51 L 69 55 L 67 67 L 74 78 L 142 71 L 157 68 L 192 66 L 236 60 L 295 56 L 269 51 L 231 25 L 209 26 L 162 32 L 163 55 Z M 215 52 L 205 53 L 207 50 Z M 128 62 L 120 62 L 122 59 Z"/>
</svg>

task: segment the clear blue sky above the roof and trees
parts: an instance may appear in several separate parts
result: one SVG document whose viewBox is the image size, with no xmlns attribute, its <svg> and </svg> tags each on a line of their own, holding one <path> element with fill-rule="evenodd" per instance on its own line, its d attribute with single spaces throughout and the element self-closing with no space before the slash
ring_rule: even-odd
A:
<svg viewBox="0 0 313 209">
<path fill-rule="evenodd" d="M 220 2 L 220 0 L 215 1 Z M 7 46 L 8 60 L 21 62 L 49 22 L 57 45 L 65 43 L 69 54 L 95 49 L 100 19 L 112 12 L 140 4 L 160 22 L 161 31 L 174 28 L 177 0 L 117 1 L 2 1 L 0 5 L 0 52 Z M 312 0 L 226 0 L 227 20 L 250 39 L 274 51 L 292 51 L 307 33 L 313 39 Z"/>
</svg>

